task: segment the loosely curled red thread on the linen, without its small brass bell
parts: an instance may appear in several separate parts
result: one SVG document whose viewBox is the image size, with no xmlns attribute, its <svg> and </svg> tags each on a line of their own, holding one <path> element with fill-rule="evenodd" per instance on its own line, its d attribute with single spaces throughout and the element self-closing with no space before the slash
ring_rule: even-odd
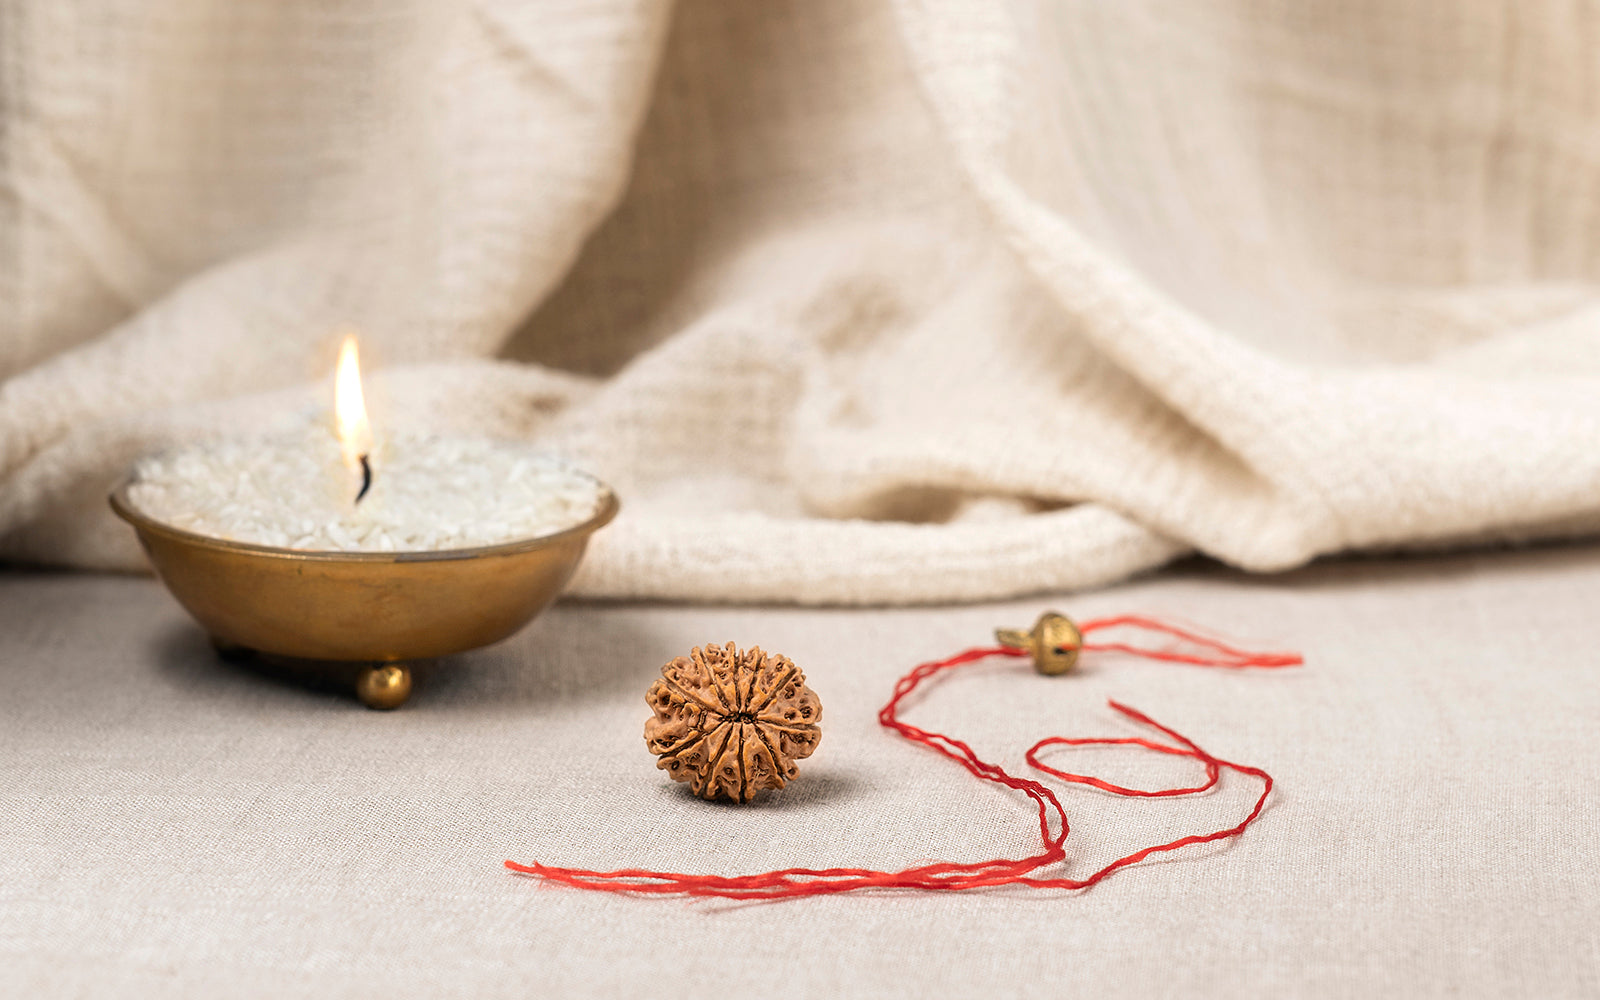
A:
<svg viewBox="0 0 1600 1000">
<path fill-rule="evenodd" d="M 1093 632 L 1104 632 L 1117 627 L 1138 627 L 1149 632 L 1165 634 L 1174 640 L 1186 643 L 1184 646 L 1168 646 L 1168 648 L 1146 648 L 1134 646 L 1122 642 L 1102 642 L 1102 643 L 1083 643 L 1083 651 L 1086 653 L 1126 653 L 1131 656 L 1144 656 L 1147 659 L 1160 659 L 1166 662 L 1195 664 L 1203 667 L 1293 667 L 1302 664 L 1302 658 L 1296 653 L 1250 653 L 1248 650 L 1234 648 L 1224 642 L 1202 635 L 1198 632 L 1182 629 L 1154 618 L 1146 618 L 1141 614 L 1120 614 L 1115 618 L 1101 618 L 1096 621 L 1088 621 L 1080 626 L 1080 632 L 1088 637 Z M 1130 795 L 1130 797 L 1171 797 L 1171 795 L 1197 795 L 1216 787 L 1221 779 L 1222 770 L 1229 770 L 1238 774 L 1248 774 L 1251 778 L 1261 779 L 1261 795 L 1256 798 L 1254 808 L 1245 816 L 1237 826 L 1230 826 L 1222 830 L 1213 830 L 1210 834 L 1194 834 L 1189 837 L 1179 837 L 1166 843 L 1157 843 L 1147 848 L 1141 848 L 1131 854 L 1125 854 L 1117 861 L 1101 867 L 1099 870 L 1083 877 L 1083 878 L 1040 878 L 1034 877 L 1038 869 L 1066 861 L 1066 842 L 1070 827 L 1067 824 L 1067 813 L 1056 798 L 1056 794 L 1050 787 L 1040 784 L 1038 781 L 1029 778 L 1018 778 L 1010 774 L 1000 765 L 989 763 L 978 757 L 978 754 L 954 736 L 944 733 L 934 733 L 931 730 L 923 730 L 910 723 L 901 722 L 899 709 L 901 702 L 910 696 L 923 682 L 946 672 L 954 670 L 971 662 L 989 659 L 990 656 L 1027 656 L 1022 650 L 1010 650 L 1003 646 L 995 648 L 979 648 L 966 650 L 965 653 L 957 653 L 949 659 L 939 659 L 933 662 L 925 662 L 914 669 L 910 674 L 902 677 L 899 683 L 894 685 L 894 694 L 890 698 L 888 704 L 878 712 L 878 722 L 885 726 L 899 733 L 912 742 L 920 742 L 933 750 L 949 757 L 963 768 L 966 768 L 974 778 L 981 781 L 992 781 L 1002 784 L 1008 789 L 1016 789 L 1022 792 L 1034 805 L 1038 808 L 1038 835 L 1043 850 L 1029 858 L 995 858 L 992 861 L 976 861 L 976 862 L 954 862 L 941 861 L 936 864 L 925 864 L 918 867 L 904 869 L 899 872 L 880 872 L 874 869 L 851 869 L 851 867 L 835 867 L 835 869 L 779 869 L 776 872 L 762 872 L 757 875 L 690 875 L 678 872 L 651 872 L 646 869 L 619 869 L 614 872 L 592 872 L 587 869 L 568 869 L 568 867 L 552 867 L 544 864 L 517 864 L 515 861 L 507 861 L 506 867 L 523 874 L 538 875 L 546 882 L 555 882 L 560 885 L 568 885 L 579 890 L 592 890 L 600 893 L 656 893 L 656 894 L 680 894 L 680 896 L 720 896 L 728 899 L 781 899 L 787 896 L 821 896 L 827 893 L 848 893 L 854 890 L 866 888 L 912 888 L 912 890 L 942 890 L 942 891 L 958 891 L 958 890 L 976 890 L 998 885 L 1022 885 L 1042 890 L 1086 890 L 1106 878 L 1112 872 L 1128 867 L 1130 864 L 1138 864 L 1152 854 L 1160 854 L 1165 851 L 1176 851 L 1184 846 L 1197 843 L 1210 843 L 1214 840 L 1227 840 L 1230 837 L 1238 837 L 1250 827 L 1251 822 L 1261 816 L 1262 806 L 1267 803 L 1267 797 L 1272 794 L 1272 776 L 1261 768 L 1253 768 L 1250 765 L 1234 763 L 1230 760 L 1222 760 L 1205 750 L 1202 750 L 1192 739 L 1182 736 L 1181 733 L 1163 726 L 1144 712 L 1128 707 L 1118 701 L 1110 701 L 1110 707 L 1122 715 L 1131 718 L 1133 722 L 1149 726 L 1173 742 L 1157 742 L 1154 739 L 1144 738 L 1067 738 L 1067 736 L 1051 736 L 1048 739 L 1040 739 L 1027 750 L 1027 763 L 1046 774 L 1053 774 L 1062 781 L 1086 784 L 1114 795 Z M 1090 774 L 1074 774 L 1069 771 L 1056 770 L 1038 760 L 1038 754 L 1046 747 L 1053 746 L 1134 746 L 1157 754 L 1170 754 L 1174 757 L 1192 757 L 1205 765 L 1205 781 L 1197 786 L 1176 787 L 1176 789 L 1128 789 Z"/>
</svg>

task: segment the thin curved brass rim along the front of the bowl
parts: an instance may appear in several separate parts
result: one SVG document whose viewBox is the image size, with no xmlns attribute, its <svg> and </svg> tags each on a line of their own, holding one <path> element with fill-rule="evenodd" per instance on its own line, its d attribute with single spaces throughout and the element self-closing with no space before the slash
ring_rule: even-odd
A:
<svg viewBox="0 0 1600 1000">
<path fill-rule="evenodd" d="M 549 534 L 531 534 L 528 538 L 517 538 L 509 542 L 494 542 L 493 546 L 472 546 L 464 549 L 413 549 L 405 552 L 339 552 L 334 549 L 285 549 L 282 546 L 262 546 L 259 542 L 242 542 L 230 538 L 216 538 L 214 534 L 200 534 L 198 531 L 189 531 L 186 528 L 178 528 L 165 522 L 155 520 L 149 514 L 144 514 L 133 506 L 128 498 L 128 490 L 138 482 L 138 474 L 126 474 L 106 498 L 110 502 L 110 509 L 122 520 L 134 526 L 141 534 L 157 534 L 168 541 L 213 549 L 218 552 L 235 552 L 240 555 L 256 555 L 264 558 L 283 558 L 283 560 L 309 560 L 309 562 L 326 562 L 326 563 L 432 563 L 432 562 L 453 562 L 466 558 L 483 558 L 494 555 L 517 555 L 522 552 L 533 552 L 536 549 L 547 549 L 550 546 L 570 541 L 573 538 L 582 538 L 598 531 L 600 528 L 611 523 L 622 504 L 616 498 L 616 491 L 611 490 L 598 477 L 578 469 L 576 466 L 562 466 L 584 478 L 594 482 L 600 490 L 600 506 L 586 520 L 571 525 L 570 528 L 562 528 L 560 531 L 552 531 Z"/>
</svg>

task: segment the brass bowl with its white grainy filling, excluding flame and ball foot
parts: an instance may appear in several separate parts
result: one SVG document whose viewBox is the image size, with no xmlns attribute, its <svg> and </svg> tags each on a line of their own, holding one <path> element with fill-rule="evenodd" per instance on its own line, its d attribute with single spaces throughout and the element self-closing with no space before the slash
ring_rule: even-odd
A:
<svg viewBox="0 0 1600 1000">
<path fill-rule="evenodd" d="M 360 504 L 338 456 L 304 454 L 240 438 L 152 456 L 110 496 L 219 648 L 386 664 L 485 646 L 555 600 L 618 512 L 610 486 L 518 443 L 390 440 Z"/>
</svg>

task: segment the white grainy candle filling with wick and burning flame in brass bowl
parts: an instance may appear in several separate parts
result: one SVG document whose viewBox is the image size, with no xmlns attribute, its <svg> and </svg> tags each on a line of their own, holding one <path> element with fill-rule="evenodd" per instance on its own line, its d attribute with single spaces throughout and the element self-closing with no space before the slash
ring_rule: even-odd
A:
<svg viewBox="0 0 1600 1000">
<path fill-rule="evenodd" d="M 592 477 L 528 443 L 373 434 L 355 334 L 342 336 L 333 382 L 331 414 L 323 403 L 282 429 L 139 462 L 131 504 L 198 534 L 312 552 L 494 546 L 563 531 L 605 504 Z"/>
</svg>

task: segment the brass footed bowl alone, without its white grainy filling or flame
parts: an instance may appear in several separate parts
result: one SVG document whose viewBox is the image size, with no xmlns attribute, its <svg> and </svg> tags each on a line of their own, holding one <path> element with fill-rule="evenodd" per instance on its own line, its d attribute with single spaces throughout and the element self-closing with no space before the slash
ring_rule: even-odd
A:
<svg viewBox="0 0 1600 1000">
<path fill-rule="evenodd" d="M 130 502 L 131 485 L 130 477 L 112 491 L 112 510 L 133 525 L 155 574 L 219 651 L 354 664 L 357 694 L 381 709 L 411 693 L 406 661 L 486 646 L 528 624 L 618 512 L 600 483 L 594 517 L 554 534 L 438 552 L 318 552 L 163 525 Z"/>
</svg>

